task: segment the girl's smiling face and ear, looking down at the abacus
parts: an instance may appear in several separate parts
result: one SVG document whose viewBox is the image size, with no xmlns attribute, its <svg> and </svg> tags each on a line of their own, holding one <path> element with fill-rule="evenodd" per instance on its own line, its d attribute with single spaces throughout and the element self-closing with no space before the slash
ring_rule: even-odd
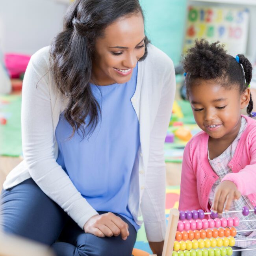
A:
<svg viewBox="0 0 256 256">
<path fill-rule="evenodd" d="M 232 139 L 239 132 L 241 109 L 250 100 L 250 89 L 225 88 L 211 80 L 192 85 L 189 101 L 198 126 L 213 139 Z"/>
</svg>

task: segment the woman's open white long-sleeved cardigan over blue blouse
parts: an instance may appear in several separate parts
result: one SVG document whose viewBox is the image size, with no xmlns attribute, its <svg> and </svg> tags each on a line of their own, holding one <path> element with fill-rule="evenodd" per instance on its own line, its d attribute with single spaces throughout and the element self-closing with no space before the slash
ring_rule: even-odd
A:
<svg viewBox="0 0 256 256">
<path fill-rule="evenodd" d="M 143 215 L 149 241 L 165 238 L 165 161 L 163 145 L 175 94 L 171 59 L 148 45 L 148 56 L 138 63 L 137 86 L 131 98 L 140 125 L 139 177 L 132 176 L 128 207 L 135 221 Z M 28 64 L 22 88 L 22 149 L 24 161 L 4 182 L 11 188 L 32 177 L 35 183 L 81 227 L 97 214 L 56 162 L 55 129 L 67 98 L 58 91 L 50 70 L 49 46 Z M 97 157 L 97 156 L 95 156 Z M 139 197 L 139 206 L 136 204 Z"/>
</svg>

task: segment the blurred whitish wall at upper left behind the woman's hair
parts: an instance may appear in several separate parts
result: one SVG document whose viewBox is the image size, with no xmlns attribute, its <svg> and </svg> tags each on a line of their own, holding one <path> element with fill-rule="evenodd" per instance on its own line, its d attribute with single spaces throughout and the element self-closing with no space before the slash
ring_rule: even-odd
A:
<svg viewBox="0 0 256 256">
<path fill-rule="evenodd" d="M 33 54 L 62 29 L 68 4 L 58 0 L 0 0 L 3 52 Z"/>
</svg>

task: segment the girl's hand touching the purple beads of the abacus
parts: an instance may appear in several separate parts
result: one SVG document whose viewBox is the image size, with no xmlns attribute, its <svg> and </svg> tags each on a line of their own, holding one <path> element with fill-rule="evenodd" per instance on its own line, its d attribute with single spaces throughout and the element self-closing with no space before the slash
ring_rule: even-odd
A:
<svg viewBox="0 0 256 256">
<path fill-rule="evenodd" d="M 228 211 L 232 204 L 233 200 L 237 200 L 241 197 L 241 193 L 237 190 L 236 184 L 234 182 L 225 180 L 216 187 L 214 193 L 214 201 L 211 210 L 217 211 L 219 214 L 222 214 L 223 208 L 225 205 L 224 211 Z"/>
</svg>

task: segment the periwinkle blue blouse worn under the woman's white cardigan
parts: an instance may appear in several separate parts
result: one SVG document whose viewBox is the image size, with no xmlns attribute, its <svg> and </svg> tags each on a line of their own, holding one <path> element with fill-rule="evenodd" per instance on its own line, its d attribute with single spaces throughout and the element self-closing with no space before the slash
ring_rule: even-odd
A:
<svg viewBox="0 0 256 256">
<path fill-rule="evenodd" d="M 128 209 L 130 178 L 132 172 L 138 173 L 140 146 L 139 121 L 131 102 L 136 83 L 137 66 L 127 83 L 91 85 L 102 112 L 95 130 L 84 139 L 79 132 L 69 139 L 72 127 L 61 113 L 56 139 L 58 164 L 89 204 L 96 211 L 122 215 L 138 230 Z"/>
</svg>

